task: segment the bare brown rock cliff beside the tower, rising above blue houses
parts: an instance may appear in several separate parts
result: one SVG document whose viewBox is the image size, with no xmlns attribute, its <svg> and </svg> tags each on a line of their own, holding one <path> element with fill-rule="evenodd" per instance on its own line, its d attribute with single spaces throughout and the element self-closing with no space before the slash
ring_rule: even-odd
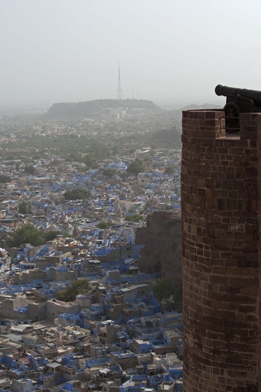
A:
<svg viewBox="0 0 261 392">
<path fill-rule="evenodd" d="M 138 266 L 142 272 L 160 272 L 173 281 L 174 292 L 182 286 L 181 215 L 179 211 L 155 211 L 146 227 L 137 229 L 136 244 L 144 244 Z"/>
</svg>

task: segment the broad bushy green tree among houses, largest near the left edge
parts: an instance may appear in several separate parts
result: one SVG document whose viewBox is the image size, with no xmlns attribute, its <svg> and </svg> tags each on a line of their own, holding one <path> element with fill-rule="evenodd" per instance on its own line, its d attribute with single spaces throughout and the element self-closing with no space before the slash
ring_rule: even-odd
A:
<svg viewBox="0 0 261 392">
<path fill-rule="evenodd" d="M 33 246 L 45 243 L 43 230 L 37 230 L 30 223 L 21 226 L 12 236 L 10 245 L 18 247 L 21 244 L 31 244 Z"/>
</svg>

